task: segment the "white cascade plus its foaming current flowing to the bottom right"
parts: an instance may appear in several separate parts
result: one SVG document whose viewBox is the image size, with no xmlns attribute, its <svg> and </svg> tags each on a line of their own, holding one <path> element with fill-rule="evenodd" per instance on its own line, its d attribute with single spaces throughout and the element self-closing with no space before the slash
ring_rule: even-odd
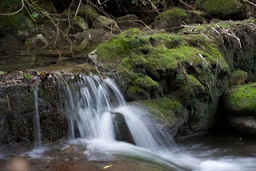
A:
<svg viewBox="0 0 256 171">
<path fill-rule="evenodd" d="M 117 86 L 109 78 L 90 75 L 71 79 L 58 75 L 58 82 L 62 92 L 62 111 L 70 121 L 70 143 L 85 144 L 89 160 L 126 156 L 166 170 L 250 171 L 256 167 L 254 157 L 216 158 L 184 152 L 168 133 L 155 126 L 145 111 L 126 105 Z M 124 117 L 135 145 L 116 141 L 118 133 L 115 126 L 118 127 L 118 123 L 114 118 L 120 115 Z M 81 138 L 74 140 L 74 137 Z M 95 156 L 95 153 L 105 155 Z"/>
</svg>

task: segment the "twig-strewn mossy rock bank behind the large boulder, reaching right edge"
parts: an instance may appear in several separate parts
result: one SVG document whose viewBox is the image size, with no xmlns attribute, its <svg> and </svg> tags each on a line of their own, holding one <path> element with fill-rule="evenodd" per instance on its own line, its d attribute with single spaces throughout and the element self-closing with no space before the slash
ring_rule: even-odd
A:
<svg viewBox="0 0 256 171">
<path fill-rule="evenodd" d="M 206 34 L 218 46 L 230 70 L 244 70 L 248 82 L 256 82 L 256 21 L 222 21 L 210 25 L 184 28 L 178 34 Z"/>
</svg>

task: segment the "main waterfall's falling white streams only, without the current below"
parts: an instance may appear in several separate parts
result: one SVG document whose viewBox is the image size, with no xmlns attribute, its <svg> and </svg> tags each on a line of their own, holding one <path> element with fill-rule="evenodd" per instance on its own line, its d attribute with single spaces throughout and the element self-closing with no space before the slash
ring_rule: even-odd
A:
<svg viewBox="0 0 256 171">
<path fill-rule="evenodd" d="M 140 109 L 126 104 L 118 86 L 110 78 L 99 78 L 94 74 L 62 76 L 56 74 L 61 98 L 61 109 L 72 124 L 70 138 L 101 139 L 116 141 L 120 126 L 127 127 L 135 145 L 146 149 L 158 149 L 164 137 L 153 128 L 152 121 Z M 122 116 L 121 123 L 117 117 Z M 126 125 L 126 126 L 123 126 Z M 74 133 L 75 129 L 78 133 Z M 154 136 L 153 136 L 154 133 Z M 172 142 L 172 137 L 167 137 Z M 171 143 L 170 143 L 171 144 Z"/>
</svg>

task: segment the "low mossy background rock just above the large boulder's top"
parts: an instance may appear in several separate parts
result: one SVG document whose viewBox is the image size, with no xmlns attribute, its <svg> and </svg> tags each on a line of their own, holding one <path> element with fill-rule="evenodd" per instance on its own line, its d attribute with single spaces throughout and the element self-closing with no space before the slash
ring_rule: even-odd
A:
<svg viewBox="0 0 256 171">
<path fill-rule="evenodd" d="M 173 8 L 165 10 L 154 18 L 154 29 L 177 30 L 184 23 L 202 23 L 205 22 L 206 14 L 195 10 L 184 10 Z"/>
</svg>

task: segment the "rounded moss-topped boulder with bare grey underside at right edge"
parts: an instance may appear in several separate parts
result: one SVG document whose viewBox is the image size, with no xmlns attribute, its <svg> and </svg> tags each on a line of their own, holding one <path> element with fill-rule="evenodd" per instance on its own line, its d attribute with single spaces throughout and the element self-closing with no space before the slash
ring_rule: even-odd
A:
<svg viewBox="0 0 256 171">
<path fill-rule="evenodd" d="M 256 135 L 256 83 L 236 85 L 223 98 L 230 124 L 240 133 Z"/>
</svg>

